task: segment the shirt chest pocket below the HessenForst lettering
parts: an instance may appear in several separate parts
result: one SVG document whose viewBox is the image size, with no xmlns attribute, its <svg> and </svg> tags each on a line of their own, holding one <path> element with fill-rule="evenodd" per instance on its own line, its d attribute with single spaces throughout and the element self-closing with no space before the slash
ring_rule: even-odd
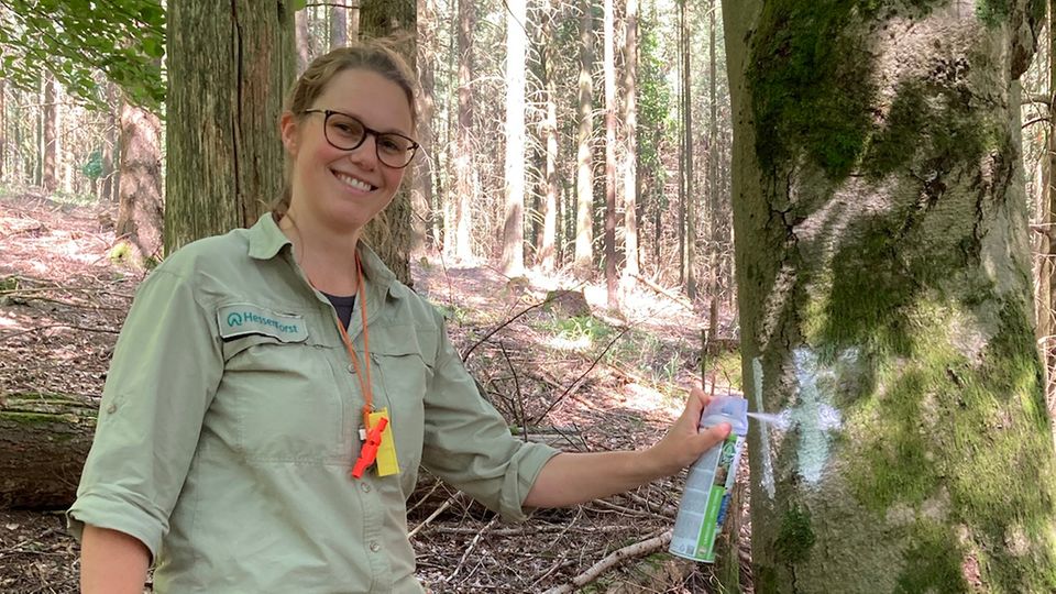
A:
<svg viewBox="0 0 1056 594">
<path fill-rule="evenodd" d="M 250 463 L 348 464 L 350 443 L 330 348 L 249 334 L 224 342 L 210 413 Z"/>
</svg>

